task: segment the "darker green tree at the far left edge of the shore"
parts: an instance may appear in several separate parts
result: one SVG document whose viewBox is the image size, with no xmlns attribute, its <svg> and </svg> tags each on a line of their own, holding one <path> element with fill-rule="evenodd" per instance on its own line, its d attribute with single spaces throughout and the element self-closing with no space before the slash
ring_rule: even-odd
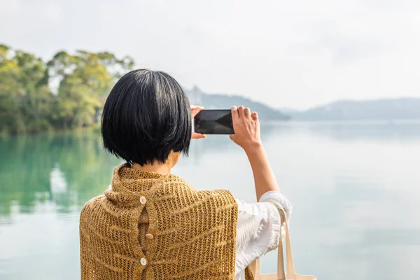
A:
<svg viewBox="0 0 420 280">
<path fill-rule="evenodd" d="M 50 90 L 41 58 L 0 45 L 0 132 L 47 130 Z"/>
</svg>

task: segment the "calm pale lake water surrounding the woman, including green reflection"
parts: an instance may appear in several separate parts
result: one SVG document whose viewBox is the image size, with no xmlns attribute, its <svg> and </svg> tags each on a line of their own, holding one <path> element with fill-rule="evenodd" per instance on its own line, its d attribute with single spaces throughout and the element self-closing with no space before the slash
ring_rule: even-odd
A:
<svg viewBox="0 0 420 280">
<path fill-rule="evenodd" d="M 1 280 L 79 279 L 79 211 L 120 163 L 98 139 L 0 139 Z M 420 278 L 420 123 L 264 125 L 262 139 L 294 206 L 298 272 L 320 280 Z M 197 189 L 255 200 L 246 156 L 228 137 L 194 141 L 174 173 Z M 274 272 L 275 264 L 269 253 L 262 269 Z"/>
</svg>

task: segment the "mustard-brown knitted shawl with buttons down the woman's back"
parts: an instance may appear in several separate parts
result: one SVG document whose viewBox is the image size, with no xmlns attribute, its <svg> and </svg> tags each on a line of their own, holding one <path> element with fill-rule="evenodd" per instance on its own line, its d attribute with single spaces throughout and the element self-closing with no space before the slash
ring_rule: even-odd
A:
<svg viewBox="0 0 420 280">
<path fill-rule="evenodd" d="M 237 218 L 228 190 L 121 165 L 80 214 L 81 279 L 233 280 Z"/>
</svg>

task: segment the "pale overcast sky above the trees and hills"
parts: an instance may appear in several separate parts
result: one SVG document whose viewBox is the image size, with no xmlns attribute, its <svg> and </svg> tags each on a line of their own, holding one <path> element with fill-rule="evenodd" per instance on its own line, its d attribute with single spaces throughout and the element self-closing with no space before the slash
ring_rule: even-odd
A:
<svg viewBox="0 0 420 280">
<path fill-rule="evenodd" d="M 110 51 L 276 108 L 420 97 L 419 0 L 0 0 L 0 43 Z"/>
</svg>

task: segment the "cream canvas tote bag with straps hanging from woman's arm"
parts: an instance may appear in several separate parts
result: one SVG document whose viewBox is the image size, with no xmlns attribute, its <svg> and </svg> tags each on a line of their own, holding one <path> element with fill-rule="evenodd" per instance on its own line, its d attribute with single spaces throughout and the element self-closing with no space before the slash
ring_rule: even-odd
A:
<svg viewBox="0 0 420 280">
<path fill-rule="evenodd" d="M 258 258 L 251 263 L 251 272 L 254 275 L 254 280 L 316 280 L 315 276 L 299 275 L 295 272 L 295 265 L 293 264 L 292 249 L 290 247 L 290 237 L 288 232 L 288 223 L 286 213 L 283 209 L 280 211 L 284 221 L 286 221 L 286 264 L 287 271 L 284 269 L 283 258 L 283 240 L 280 237 L 279 241 L 279 255 L 277 257 L 277 273 L 261 274 L 260 272 L 260 259 Z"/>
</svg>

